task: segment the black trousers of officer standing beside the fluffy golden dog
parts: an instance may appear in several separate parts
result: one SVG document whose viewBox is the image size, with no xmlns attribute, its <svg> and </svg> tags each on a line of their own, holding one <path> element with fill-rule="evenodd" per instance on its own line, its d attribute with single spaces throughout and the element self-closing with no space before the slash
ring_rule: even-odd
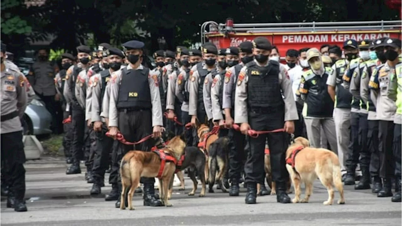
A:
<svg viewBox="0 0 402 226">
<path fill-rule="evenodd" d="M 274 130 L 283 128 L 284 111 L 275 112 L 248 112 L 250 127 L 256 131 Z M 285 166 L 285 152 L 289 146 L 289 135 L 285 132 L 261 134 L 257 138 L 249 138 L 250 152 L 247 155 L 244 173 L 245 183 L 264 183 L 264 150 L 265 141 L 271 151 L 272 180 L 277 183 L 278 190 L 285 190 L 285 180 L 288 175 Z"/>
</svg>

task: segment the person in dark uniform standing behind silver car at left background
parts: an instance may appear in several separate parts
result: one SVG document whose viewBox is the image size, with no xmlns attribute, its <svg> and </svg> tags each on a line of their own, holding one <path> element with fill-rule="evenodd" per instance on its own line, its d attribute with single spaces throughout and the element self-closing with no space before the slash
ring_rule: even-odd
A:
<svg viewBox="0 0 402 226">
<path fill-rule="evenodd" d="M 55 66 L 49 62 L 46 49 L 39 49 L 38 61 L 34 62 L 28 73 L 29 83 L 38 97 L 45 103 L 46 109 L 52 115 L 52 131 L 58 133 L 54 87 Z"/>
</svg>

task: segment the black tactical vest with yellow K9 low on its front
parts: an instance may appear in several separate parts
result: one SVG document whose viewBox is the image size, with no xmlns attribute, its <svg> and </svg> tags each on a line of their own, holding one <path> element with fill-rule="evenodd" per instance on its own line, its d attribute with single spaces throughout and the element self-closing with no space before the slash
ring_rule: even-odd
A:
<svg viewBox="0 0 402 226">
<path fill-rule="evenodd" d="M 150 69 L 144 67 L 142 70 L 121 70 L 121 83 L 117 109 L 136 111 L 141 109 L 152 109 L 151 91 L 148 82 Z"/>
</svg>

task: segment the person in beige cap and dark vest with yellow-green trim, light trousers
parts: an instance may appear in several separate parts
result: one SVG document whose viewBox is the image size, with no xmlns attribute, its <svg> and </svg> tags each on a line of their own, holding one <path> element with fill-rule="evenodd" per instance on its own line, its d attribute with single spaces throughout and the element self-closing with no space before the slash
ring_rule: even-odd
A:
<svg viewBox="0 0 402 226">
<path fill-rule="evenodd" d="M 321 147 L 321 127 L 330 143 L 331 150 L 337 153 L 335 139 L 335 125 L 332 118 L 334 102 L 328 94 L 326 81 L 335 72 L 331 68 L 324 68 L 321 53 L 316 48 L 307 51 L 307 61 L 310 70 L 303 73 L 296 95 L 300 102 L 304 102 L 303 117 L 306 123 L 307 136 L 310 145 Z M 326 143 L 325 143 L 326 144 Z M 271 148 L 271 146 L 269 146 Z"/>
</svg>

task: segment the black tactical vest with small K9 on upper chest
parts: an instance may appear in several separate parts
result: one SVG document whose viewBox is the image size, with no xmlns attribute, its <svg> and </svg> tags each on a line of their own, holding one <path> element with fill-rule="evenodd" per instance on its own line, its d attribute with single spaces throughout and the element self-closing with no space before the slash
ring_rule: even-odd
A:
<svg viewBox="0 0 402 226">
<path fill-rule="evenodd" d="M 258 66 L 254 61 L 247 66 L 248 109 L 251 111 L 284 111 L 285 103 L 279 84 L 279 63 L 269 62 L 266 67 Z"/>
</svg>

